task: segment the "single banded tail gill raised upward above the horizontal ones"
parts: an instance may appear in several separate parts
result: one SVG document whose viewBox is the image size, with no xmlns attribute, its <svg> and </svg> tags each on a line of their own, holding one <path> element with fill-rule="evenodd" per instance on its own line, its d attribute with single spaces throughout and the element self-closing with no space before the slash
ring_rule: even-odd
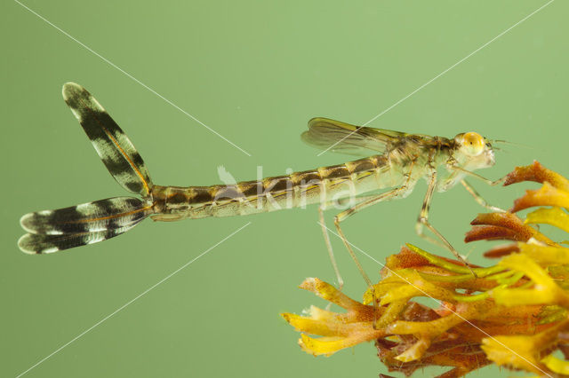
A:
<svg viewBox="0 0 569 378">
<path fill-rule="evenodd" d="M 63 99 L 116 182 L 129 192 L 148 197 L 152 182 L 144 161 L 99 101 L 76 83 L 63 85 Z"/>
</svg>

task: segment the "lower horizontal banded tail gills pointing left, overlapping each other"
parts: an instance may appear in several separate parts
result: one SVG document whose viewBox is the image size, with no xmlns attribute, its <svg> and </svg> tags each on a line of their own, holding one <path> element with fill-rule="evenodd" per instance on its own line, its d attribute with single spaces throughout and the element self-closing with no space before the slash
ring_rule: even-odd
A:
<svg viewBox="0 0 569 378">
<path fill-rule="evenodd" d="M 28 233 L 18 240 L 18 246 L 36 255 L 96 243 L 130 230 L 152 212 L 147 201 L 115 197 L 29 213 L 20 219 Z"/>
</svg>

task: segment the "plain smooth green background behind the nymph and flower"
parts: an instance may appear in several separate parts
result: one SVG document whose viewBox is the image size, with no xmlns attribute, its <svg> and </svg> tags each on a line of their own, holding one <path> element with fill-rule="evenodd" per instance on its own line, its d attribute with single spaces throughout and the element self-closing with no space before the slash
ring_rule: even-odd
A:
<svg viewBox="0 0 569 378">
<path fill-rule="evenodd" d="M 546 2 L 25 4 L 252 157 L 20 4 L 3 2 L 0 375 L 26 371 L 251 221 L 26 376 L 374 377 L 387 372 L 372 343 L 313 358 L 278 316 L 325 306 L 297 288 L 306 277 L 334 279 L 315 207 L 148 220 L 104 243 L 52 256 L 20 253 L 22 214 L 125 195 L 62 101 L 61 84 L 75 81 L 92 91 L 156 184 L 218 184 L 219 165 L 237 180 L 254 178 L 259 165 L 266 176 L 279 175 L 350 160 L 318 157 L 301 143 L 309 118 L 366 122 Z M 370 126 L 446 137 L 477 130 L 532 147 L 506 146 L 496 167 L 481 172 L 487 177 L 533 159 L 568 175 L 568 11 L 562 0 L 549 4 Z M 503 208 L 532 186 L 474 184 Z M 445 254 L 414 233 L 425 188 L 421 183 L 404 201 L 350 219 L 349 240 L 380 261 L 404 242 Z M 482 211 L 456 187 L 437 194 L 431 217 L 477 263 L 488 244 L 461 240 Z M 333 246 L 345 292 L 359 298 L 364 281 L 341 241 L 333 237 Z M 377 280 L 381 266 L 362 262 Z M 509 373 L 487 368 L 472 376 L 498 374 Z"/>
</svg>

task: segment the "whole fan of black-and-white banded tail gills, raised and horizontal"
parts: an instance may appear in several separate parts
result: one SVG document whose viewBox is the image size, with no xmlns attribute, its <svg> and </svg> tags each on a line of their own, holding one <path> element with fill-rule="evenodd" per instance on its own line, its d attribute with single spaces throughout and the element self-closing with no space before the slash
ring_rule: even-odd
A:
<svg viewBox="0 0 569 378">
<path fill-rule="evenodd" d="M 21 217 L 28 233 L 18 241 L 28 254 L 44 254 L 107 240 L 130 230 L 153 213 L 152 182 L 132 142 L 99 102 L 76 83 L 63 85 L 63 98 L 83 126 L 116 182 L 143 199 L 115 197 Z"/>
</svg>

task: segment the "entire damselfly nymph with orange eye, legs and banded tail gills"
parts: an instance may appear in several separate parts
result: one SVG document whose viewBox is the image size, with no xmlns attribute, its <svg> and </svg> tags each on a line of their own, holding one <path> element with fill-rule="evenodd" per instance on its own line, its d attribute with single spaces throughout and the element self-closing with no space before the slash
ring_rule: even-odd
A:
<svg viewBox="0 0 569 378">
<path fill-rule="evenodd" d="M 141 198 L 115 197 L 66 209 L 29 213 L 20 220 L 28 233 L 20 238 L 19 247 L 26 253 L 51 253 L 107 240 L 130 230 L 146 217 L 173 221 L 245 216 L 315 203 L 320 204 L 320 220 L 325 231 L 322 210 L 342 202 L 349 208 L 341 211 L 334 223 L 366 282 L 371 285 L 341 231 L 341 222 L 350 215 L 380 201 L 403 198 L 421 178 L 425 178 L 429 186 L 417 232 L 424 236 L 422 228 L 428 227 L 439 243 L 459 256 L 429 224 L 429 203 L 435 190 L 442 192 L 461 182 L 479 203 L 493 209 L 464 181 L 465 176 L 472 176 L 489 184 L 498 182 L 472 172 L 494 163 L 491 144 L 475 132 L 461 133 L 455 138 L 429 137 L 315 118 L 302 135 L 307 143 L 328 149 L 333 146 L 333 151 L 371 156 L 234 185 L 162 186 L 152 184 L 148 169 L 130 139 L 88 91 L 76 83 L 66 83 L 63 98 L 111 175 L 124 189 Z M 391 189 L 374 193 L 386 188 Z M 327 232 L 325 240 L 341 286 Z"/>
</svg>

